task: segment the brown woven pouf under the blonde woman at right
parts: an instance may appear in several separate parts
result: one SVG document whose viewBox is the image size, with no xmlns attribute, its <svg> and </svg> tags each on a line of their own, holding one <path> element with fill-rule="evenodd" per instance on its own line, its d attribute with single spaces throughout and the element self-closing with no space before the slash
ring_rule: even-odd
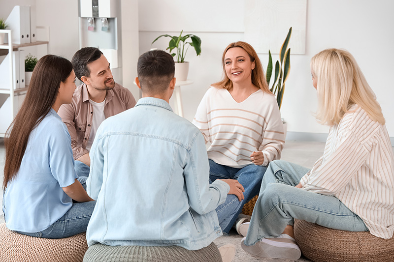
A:
<svg viewBox="0 0 394 262">
<path fill-rule="evenodd" d="M 314 262 L 394 261 L 394 237 L 328 229 L 298 219 L 294 234 L 302 254 Z"/>
</svg>

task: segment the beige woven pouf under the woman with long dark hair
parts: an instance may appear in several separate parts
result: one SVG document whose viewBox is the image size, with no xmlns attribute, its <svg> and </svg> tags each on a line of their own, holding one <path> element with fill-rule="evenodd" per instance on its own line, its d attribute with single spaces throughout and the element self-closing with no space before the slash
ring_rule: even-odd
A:
<svg viewBox="0 0 394 262">
<path fill-rule="evenodd" d="M 81 262 L 87 249 L 86 233 L 49 239 L 15 233 L 0 224 L 1 262 Z"/>
</svg>

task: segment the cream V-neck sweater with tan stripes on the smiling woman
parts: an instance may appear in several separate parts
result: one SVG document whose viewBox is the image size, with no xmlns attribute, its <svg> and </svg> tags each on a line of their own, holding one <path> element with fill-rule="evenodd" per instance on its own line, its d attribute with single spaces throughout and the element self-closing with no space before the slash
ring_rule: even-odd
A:
<svg viewBox="0 0 394 262">
<path fill-rule="evenodd" d="M 208 158 L 229 167 L 253 164 L 253 151 L 263 152 L 266 166 L 280 159 L 285 143 L 275 97 L 262 90 L 238 103 L 227 89 L 211 87 L 197 108 L 193 124 L 204 135 L 205 143 L 211 143 Z"/>
</svg>

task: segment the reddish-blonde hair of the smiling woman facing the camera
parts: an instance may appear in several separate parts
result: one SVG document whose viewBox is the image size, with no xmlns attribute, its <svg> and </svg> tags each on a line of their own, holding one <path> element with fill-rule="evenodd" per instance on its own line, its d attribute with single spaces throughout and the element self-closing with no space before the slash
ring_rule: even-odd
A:
<svg viewBox="0 0 394 262">
<path fill-rule="evenodd" d="M 256 87 L 261 88 L 264 92 L 272 94 L 272 92 L 269 90 L 267 81 L 265 80 L 263 65 L 262 62 L 260 61 L 260 58 L 258 57 L 256 51 L 253 49 L 253 47 L 250 44 L 242 41 L 231 43 L 226 47 L 222 56 L 224 77 L 222 81 L 212 84 L 211 86 L 217 88 L 225 88 L 227 90 L 230 90 L 232 88 L 232 82 L 226 74 L 225 56 L 227 51 L 229 51 L 230 48 L 234 48 L 234 47 L 240 47 L 243 50 L 245 50 L 246 53 L 248 53 L 250 60 L 252 62 L 255 62 L 255 68 L 252 70 L 252 84 L 255 85 Z"/>
</svg>

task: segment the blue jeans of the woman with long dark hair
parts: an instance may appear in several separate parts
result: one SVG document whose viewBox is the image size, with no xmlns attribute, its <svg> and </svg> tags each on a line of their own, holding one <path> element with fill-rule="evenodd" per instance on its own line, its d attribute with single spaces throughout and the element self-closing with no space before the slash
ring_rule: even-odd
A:
<svg viewBox="0 0 394 262">
<path fill-rule="evenodd" d="M 86 176 L 77 178 L 86 190 Z M 53 223 L 49 228 L 35 233 L 26 233 L 16 231 L 17 233 L 43 237 L 43 238 L 64 238 L 78 233 L 86 232 L 90 217 L 92 216 L 93 209 L 95 208 L 96 201 L 73 203 L 71 208 L 68 209 L 66 214 L 58 221 Z"/>
</svg>

